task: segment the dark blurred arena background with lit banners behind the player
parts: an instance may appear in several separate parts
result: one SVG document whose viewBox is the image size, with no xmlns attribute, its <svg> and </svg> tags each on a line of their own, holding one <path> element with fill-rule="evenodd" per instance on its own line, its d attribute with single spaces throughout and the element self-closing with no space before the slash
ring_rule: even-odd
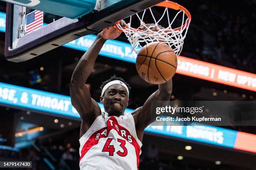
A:
<svg viewBox="0 0 256 170">
<path fill-rule="evenodd" d="M 195 60 L 178 58 L 180 64 L 186 61 L 191 67 L 187 73 L 178 68 L 171 100 L 256 100 L 256 1 L 177 2 L 192 15 L 181 56 Z M 80 120 L 66 106 L 72 72 L 95 36 L 81 37 L 26 62 L 9 62 L 4 57 L 5 5 L 0 1 L 0 160 L 29 160 L 33 170 L 79 169 Z M 59 18 L 45 14 L 44 23 Z M 157 87 L 138 76 L 134 56 L 126 54 L 131 52 L 127 46 L 124 35 L 109 41 L 97 58 L 87 86 L 92 98 L 99 102 L 101 82 L 114 74 L 123 77 L 132 87 L 128 108 L 133 110 L 143 105 Z M 226 69 L 218 76 L 220 80 L 203 78 L 204 68 L 217 70 L 216 65 Z M 230 68 L 243 71 L 241 74 L 246 72 L 245 75 L 252 73 L 254 78 L 250 84 L 248 79 L 238 87 L 237 82 L 232 82 L 235 73 Z M 18 103 L 14 93 L 24 100 L 33 94 L 32 104 Z M 46 98 L 55 101 L 56 106 L 47 107 Z M 186 127 L 181 128 L 167 132 L 161 127 L 148 127 L 139 169 L 256 170 L 256 126 L 195 129 L 197 136 L 189 134 Z M 216 132 L 222 134 L 221 142 L 214 139 Z"/>
</svg>

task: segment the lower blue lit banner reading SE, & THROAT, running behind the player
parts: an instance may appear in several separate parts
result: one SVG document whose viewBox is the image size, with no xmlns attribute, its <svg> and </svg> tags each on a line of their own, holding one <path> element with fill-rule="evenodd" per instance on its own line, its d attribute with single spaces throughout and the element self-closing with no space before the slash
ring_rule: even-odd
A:
<svg viewBox="0 0 256 170">
<path fill-rule="evenodd" d="M 50 112 L 57 115 L 80 118 L 77 110 L 72 106 L 69 96 L 10 85 L 2 82 L 0 82 L 0 103 Z M 98 104 L 100 105 L 100 108 L 104 110 L 102 103 Z M 125 112 L 133 112 L 133 110 L 126 109 Z M 149 125 L 145 131 L 187 140 L 195 140 L 202 143 L 220 145 L 228 148 L 234 147 L 237 135 L 237 131 L 207 125 Z"/>
</svg>

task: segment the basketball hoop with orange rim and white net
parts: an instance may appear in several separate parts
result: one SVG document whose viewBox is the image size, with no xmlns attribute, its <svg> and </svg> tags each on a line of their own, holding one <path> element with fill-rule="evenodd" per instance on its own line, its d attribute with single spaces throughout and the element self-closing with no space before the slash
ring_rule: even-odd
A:
<svg viewBox="0 0 256 170">
<path fill-rule="evenodd" d="M 164 13 L 159 20 L 156 20 L 156 17 L 154 16 L 154 7 L 165 7 Z M 133 50 L 136 53 L 143 46 L 143 43 L 148 44 L 150 42 L 158 41 L 168 44 L 170 47 L 172 47 L 176 55 L 179 55 L 180 52 L 182 51 L 182 46 L 187 34 L 187 30 L 189 28 L 189 23 L 191 22 L 191 15 L 189 11 L 182 5 L 179 5 L 175 2 L 171 2 L 168 0 L 159 3 L 154 7 L 150 7 L 146 10 L 141 11 L 140 13 L 131 15 L 128 18 L 128 23 L 125 23 L 125 19 L 122 21 L 118 21 L 116 23 L 117 28 L 125 33 L 126 37 L 128 38 L 128 41 L 131 43 L 131 45 L 133 46 Z M 179 12 L 172 19 L 172 21 L 170 20 L 168 9 L 179 10 Z M 148 11 L 152 15 L 151 20 L 153 19 L 152 23 L 154 23 L 154 25 L 146 25 L 146 21 L 143 21 L 143 19 L 145 20 L 146 13 Z M 173 28 L 173 23 L 179 16 L 179 14 L 182 14 L 182 24 L 176 28 Z M 136 20 L 139 20 L 140 22 L 140 25 L 138 27 L 134 26 L 134 22 L 132 25 L 132 19 L 134 20 L 134 17 L 136 16 Z M 159 23 L 162 23 L 163 21 L 166 23 L 166 25 L 168 25 L 165 28 L 160 28 Z M 144 27 L 143 29 L 141 29 L 142 26 Z M 154 28 L 154 30 L 152 30 L 152 28 Z"/>
</svg>

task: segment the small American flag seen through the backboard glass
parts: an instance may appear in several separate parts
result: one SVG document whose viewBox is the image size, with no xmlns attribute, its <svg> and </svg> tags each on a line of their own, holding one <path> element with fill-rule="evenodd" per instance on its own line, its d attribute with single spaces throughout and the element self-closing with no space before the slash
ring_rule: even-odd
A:
<svg viewBox="0 0 256 170">
<path fill-rule="evenodd" d="M 44 12 L 34 10 L 26 16 L 26 33 L 38 30 L 43 26 Z"/>
</svg>

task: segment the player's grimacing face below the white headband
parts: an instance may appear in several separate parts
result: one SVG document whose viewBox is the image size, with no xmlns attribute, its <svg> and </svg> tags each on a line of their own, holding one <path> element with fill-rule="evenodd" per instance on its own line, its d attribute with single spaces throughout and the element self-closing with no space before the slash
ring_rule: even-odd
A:
<svg viewBox="0 0 256 170">
<path fill-rule="evenodd" d="M 123 85 L 111 85 L 105 91 L 104 96 L 100 96 L 100 101 L 109 115 L 123 115 L 129 102 L 128 92 Z"/>
</svg>

